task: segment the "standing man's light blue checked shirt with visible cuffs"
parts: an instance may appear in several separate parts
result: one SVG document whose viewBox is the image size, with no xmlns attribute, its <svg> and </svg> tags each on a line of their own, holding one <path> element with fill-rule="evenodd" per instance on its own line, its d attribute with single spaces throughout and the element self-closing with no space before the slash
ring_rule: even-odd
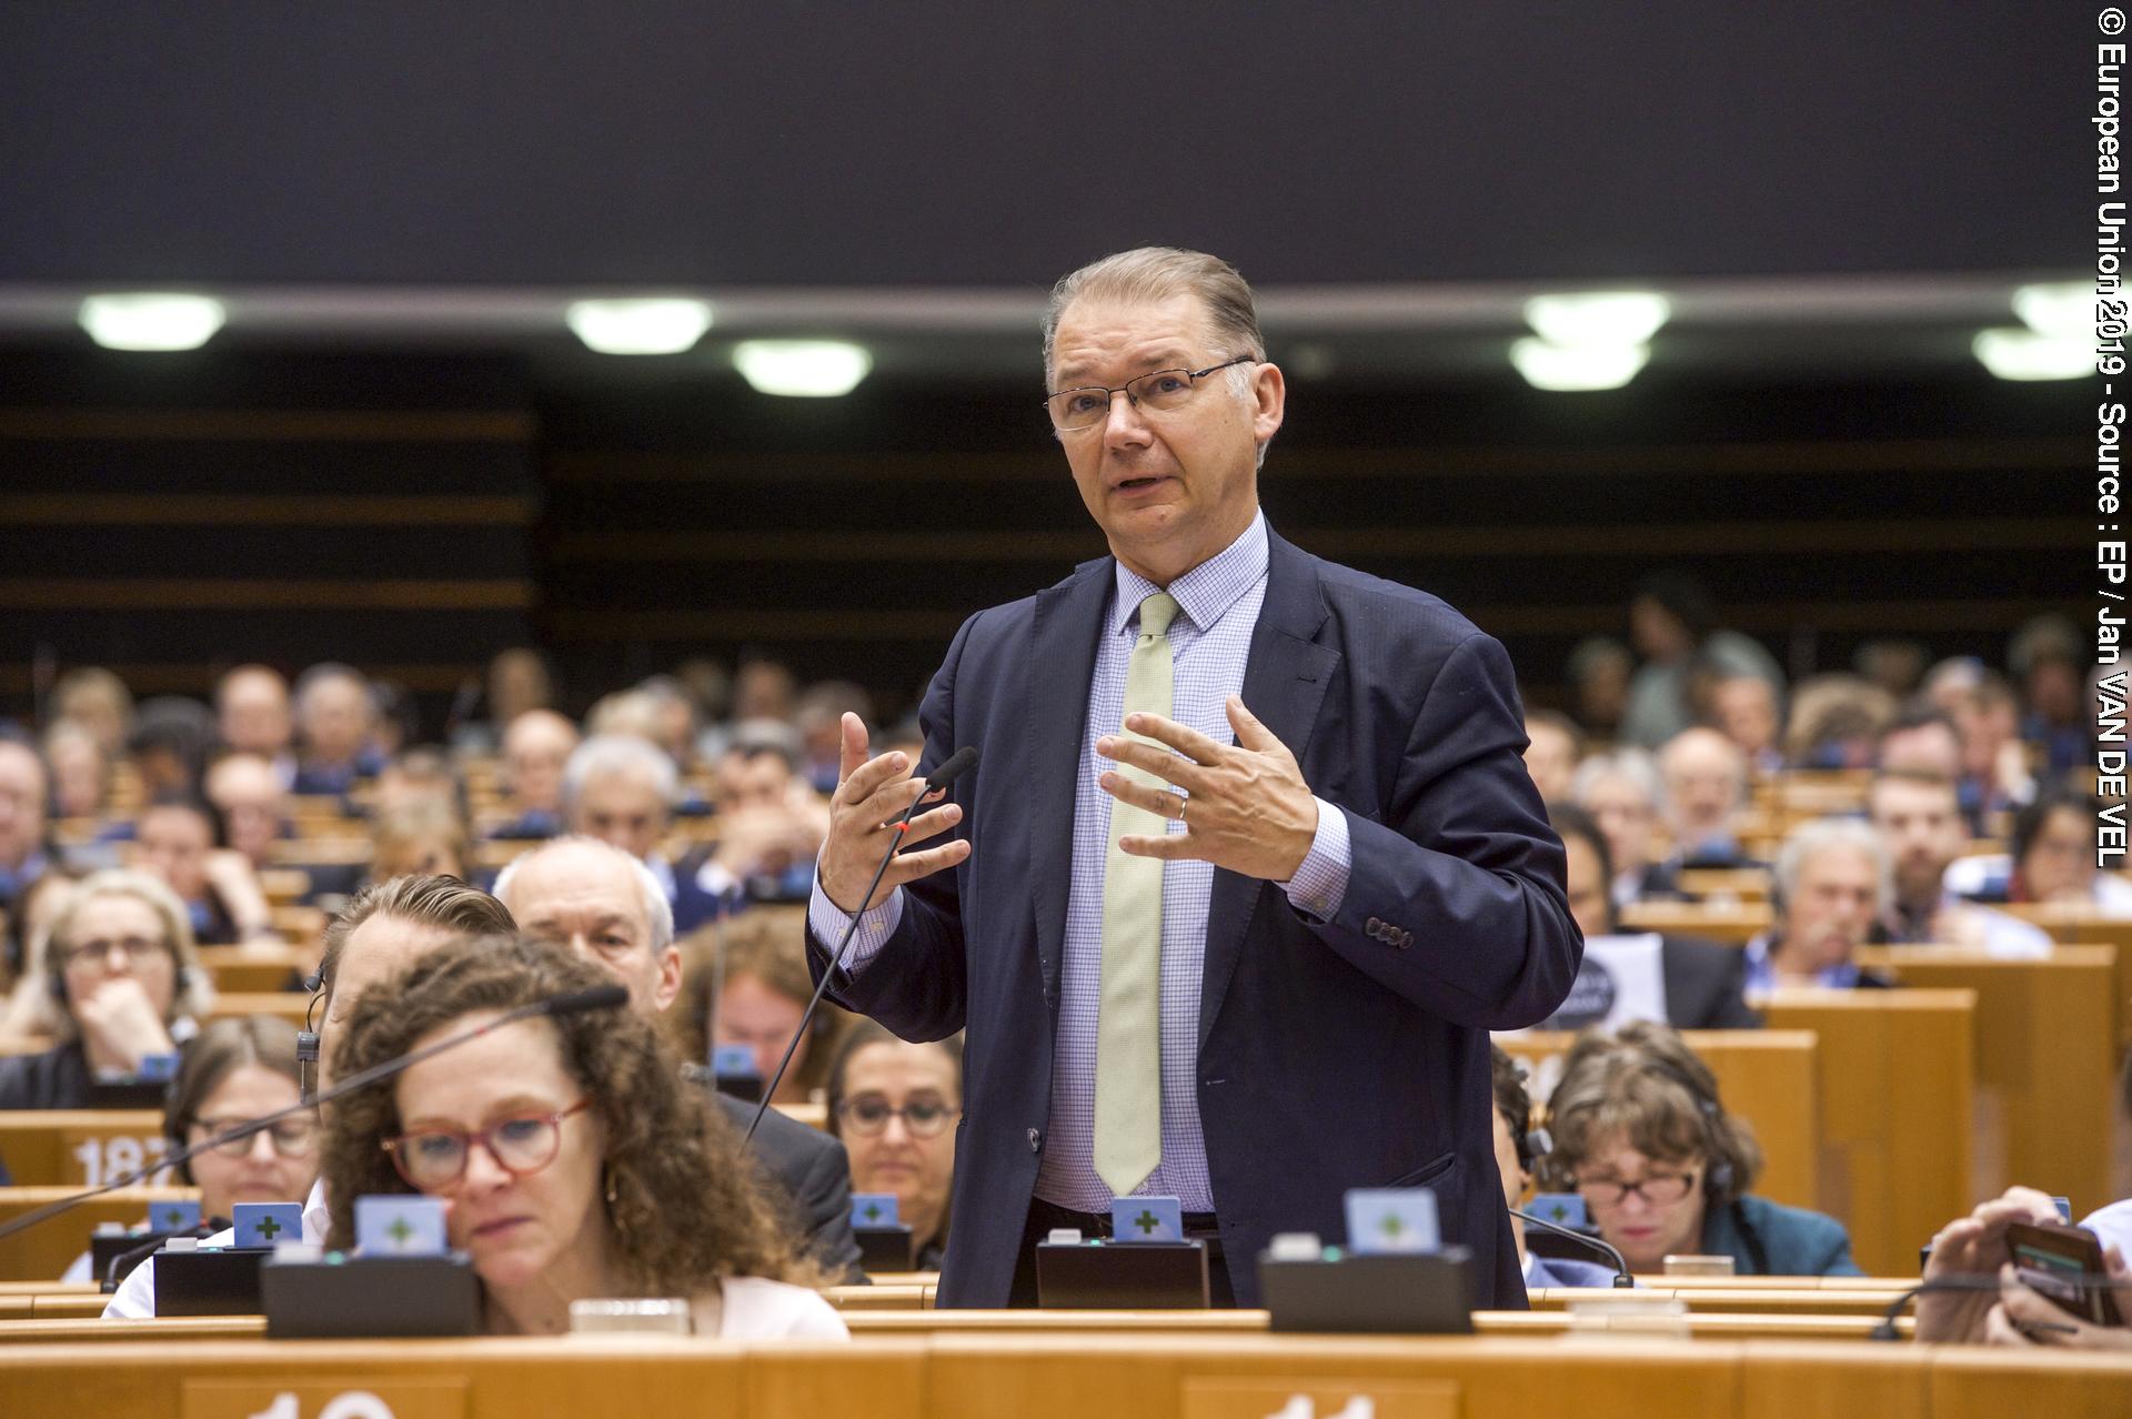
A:
<svg viewBox="0 0 2132 1419">
<path fill-rule="evenodd" d="M 1111 1189 L 1092 1163 L 1096 1125 L 1096 1012 L 1102 991 L 1102 863 L 1111 846 L 1111 795 L 1096 782 L 1113 761 L 1096 739 L 1124 727 L 1126 665 L 1138 639 L 1141 601 L 1168 590 L 1177 599 L 1170 622 L 1175 667 L 1170 718 L 1209 739 L 1234 744 L 1228 697 L 1243 692 L 1251 631 L 1266 599 L 1264 513 L 1213 558 L 1166 588 L 1115 567 L 1117 590 L 1104 611 L 1096 675 L 1081 731 L 1081 769 L 1075 782 L 1072 884 L 1066 895 L 1066 957 L 1060 972 L 1060 1018 L 1051 1063 L 1051 1129 L 1036 1174 L 1036 1195 L 1062 1208 L 1109 1212 Z M 972 825 L 974 827 L 974 825 Z M 1181 833 L 1181 822 L 1170 822 Z M 1347 820 L 1318 799 L 1318 839 L 1296 876 L 1281 884 L 1309 916 L 1330 920 L 1347 893 L 1354 865 Z M 1200 1133 L 1196 1055 L 1200 980 L 1207 961 L 1207 910 L 1213 899 L 1213 863 L 1162 865 L 1162 1163 L 1136 1193 L 1173 1195 L 1185 1212 L 1213 1212 L 1207 1140 Z M 851 942 L 851 972 L 859 974 L 881 952 L 902 920 L 902 888 L 859 920 Z M 814 937 L 834 942 L 851 918 L 817 886 L 808 906 Z"/>
</svg>

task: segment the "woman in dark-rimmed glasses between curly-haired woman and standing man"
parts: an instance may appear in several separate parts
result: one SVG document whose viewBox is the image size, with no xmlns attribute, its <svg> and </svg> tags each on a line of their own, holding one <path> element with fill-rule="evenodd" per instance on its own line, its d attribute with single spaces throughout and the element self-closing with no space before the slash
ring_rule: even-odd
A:
<svg viewBox="0 0 2132 1419">
<path fill-rule="evenodd" d="M 895 1193 L 915 1268 L 938 1272 L 955 1185 L 962 1046 L 910 1044 L 861 1021 L 829 1065 L 829 1131 L 851 1153 L 851 1191 Z"/>
</svg>

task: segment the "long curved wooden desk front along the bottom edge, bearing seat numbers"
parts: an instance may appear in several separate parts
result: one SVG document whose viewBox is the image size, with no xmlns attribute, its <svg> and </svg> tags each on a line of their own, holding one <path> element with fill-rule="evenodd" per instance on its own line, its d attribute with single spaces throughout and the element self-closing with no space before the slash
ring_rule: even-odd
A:
<svg viewBox="0 0 2132 1419">
<path fill-rule="evenodd" d="M 1531 1327 L 1531 1321 L 1514 1323 Z M 143 1340 L 13 1344 L 0 1413 L 313 1419 L 362 1389 L 397 1419 L 1697 1419 L 2123 1415 L 2132 1361 L 1915 1344 L 1633 1336 L 934 1334 L 849 1344 Z M 1296 1400 L 1301 1398 L 1301 1404 Z M 1983 1400 L 1996 1404 L 1989 1408 Z M 1350 1413 L 1362 1413 L 1354 1408 Z"/>
</svg>

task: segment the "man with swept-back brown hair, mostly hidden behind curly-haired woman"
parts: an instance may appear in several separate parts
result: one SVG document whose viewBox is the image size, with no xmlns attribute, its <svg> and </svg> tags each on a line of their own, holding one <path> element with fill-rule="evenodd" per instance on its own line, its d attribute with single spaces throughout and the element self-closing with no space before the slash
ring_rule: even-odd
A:
<svg viewBox="0 0 2132 1419">
<path fill-rule="evenodd" d="M 463 935 L 499 937 L 514 931 L 510 912 L 484 891 L 456 878 L 394 878 L 367 886 L 326 925 L 324 957 L 318 965 L 318 1082 L 333 1084 L 333 1050 L 354 1001 L 382 980 Z M 209 1246 L 228 1246 L 232 1234 L 207 1238 Z M 324 1178 L 311 1185 L 303 1200 L 303 1240 L 326 1240 Z M 156 1315 L 156 1259 L 149 1257 L 119 1283 L 104 1306 L 104 1319 L 143 1319 Z"/>
</svg>

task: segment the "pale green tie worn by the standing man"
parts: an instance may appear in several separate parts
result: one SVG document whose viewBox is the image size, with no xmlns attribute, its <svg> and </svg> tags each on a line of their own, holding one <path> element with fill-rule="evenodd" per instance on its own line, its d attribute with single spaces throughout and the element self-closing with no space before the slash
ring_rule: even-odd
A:
<svg viewBox="0 0 2132 1419">
<path fill-rule="evenodd" d="M 1170 620 L 1177 601 L 1141 603 L 1141 639 L 1126 665 L 1124 714 L 1170 714 Z M 1124 718 L 1124 716 L 1121 716 Z M 1124 729 L 1119 729 L 1124 733 Z M 1156 744 L 1147 735 L 1126 735 Z M 1168 788 L 1145 769 L 1117 773 Z M 1096 1016 L 1096 1176 L 1124 1197 L 1162 1161 L 1162 859 L 1128 857 L 1119 837 L 1160 837 L 1166 818 L 1111 801 L 1111 848 L 1102 861 L 1102 999 Z"/>
</svg>

